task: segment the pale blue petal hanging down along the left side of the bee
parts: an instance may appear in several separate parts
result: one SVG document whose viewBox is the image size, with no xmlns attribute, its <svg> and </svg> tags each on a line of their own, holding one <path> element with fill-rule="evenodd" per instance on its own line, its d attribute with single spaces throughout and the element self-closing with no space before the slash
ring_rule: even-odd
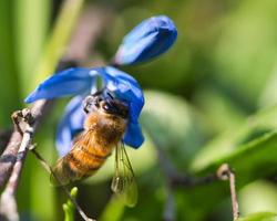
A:
<svg viewBox="0 0 277 221">
<path fill-rule="evenodd" d="M 66 155 L 72 148 L 75 135 L 83 130 L 85 114 L 82 107 L 83 96 L 75 96 L 65 107 L 65 113 L 59 124 L 55 146 L 59 155 Z"/>
</svg>

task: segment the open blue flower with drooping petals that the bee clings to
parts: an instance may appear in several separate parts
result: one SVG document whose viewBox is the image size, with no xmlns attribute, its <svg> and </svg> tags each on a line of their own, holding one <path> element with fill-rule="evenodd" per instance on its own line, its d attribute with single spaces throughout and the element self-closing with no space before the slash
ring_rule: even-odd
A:
<svg viewBox="0 0 277 221">
<path fill-rule="evenodd" d="M 25 98 L 25 103 L 32 103 L 38 99 L 76 95 L 66 106 L 58 127 L 57 147 L 61 156 L 70 150 L 74 136 L 83 130 L 82 101 L 88 94 L 96 92 L 96 77 L 103 80 L 104 88 L 129 105 L 129 124 L 123 141 L 134 148 L 138 148 L 144 141 L 138 124 L 144 96 L 138 83 L 131 75 L 112 66 L 68 69 L 45 80 Z"/>
</svg>

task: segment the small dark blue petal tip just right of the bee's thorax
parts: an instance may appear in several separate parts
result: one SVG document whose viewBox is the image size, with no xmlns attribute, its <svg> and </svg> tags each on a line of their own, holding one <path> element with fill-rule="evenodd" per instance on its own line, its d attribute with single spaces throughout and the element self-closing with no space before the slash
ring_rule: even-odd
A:
<svg viewBox="0 0 277 221">
<path fill-rule="evenodd" d="M 124 144 L 130 147 L 138 148 L 144 141 L 144 137 L 142 134 L 142 128 L 138 123 L 130 122 L 127 125 L 127 129 L 123 137 Z"/>
</svg>

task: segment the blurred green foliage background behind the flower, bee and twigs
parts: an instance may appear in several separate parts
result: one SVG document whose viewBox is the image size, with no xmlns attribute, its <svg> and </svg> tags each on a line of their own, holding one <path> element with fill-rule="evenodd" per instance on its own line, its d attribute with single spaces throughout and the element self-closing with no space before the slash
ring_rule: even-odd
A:
<svg viewBox="0 0 277 221">
<path fill-rule="evenodd" d="M 23 98 L 44 78 L 39 64 L 47 60 L 43 54 L 61 9 L 58 0 L 0 1 L 0 130 L 12 127 L 11 113 L 24 106 Z M 141 118 L 146 141 L 138 150 L 129 148 L 138 204 L 129 209 L 110 200 L 111 157 L 95 177 L 78 183 L 84 211 L 103 221 L 163 220 L 167 191 L 156 157 L 161 148 L 179 171 L 193 176 L 229 162 L 237 172 L 243 217 L 277 213 L 277 1 L 88 0 L 80 17 L 84 13 L 86 20 L 76 27 L 85 21 L 88 27 L 91 19 L 93 45 L 84 54 L 74 51 L 82 36 L 91 34 L 85 28 L 76 33 L 76 28 L 69 41 L 73 51 L 61 46 L 61 55 L 83 66 L 111 60 L 124 34 L 151 15 L 168 15 L 178 30 L 166 54 L 123 69 L 137 78 L 146 98 Z M 66 28 L 66 18 L 62 22 Z M 58 158 L 54 133 L 68 101 L 57 101 L 35 134 L 38 151 L 50 164 Z M 65 201 L 29 154 L 18 190 L 22 220 L 63 220 Z M 174 201 L 175 220 L 232 220 L 227 182 L 177 188 Z"/>
</svg>

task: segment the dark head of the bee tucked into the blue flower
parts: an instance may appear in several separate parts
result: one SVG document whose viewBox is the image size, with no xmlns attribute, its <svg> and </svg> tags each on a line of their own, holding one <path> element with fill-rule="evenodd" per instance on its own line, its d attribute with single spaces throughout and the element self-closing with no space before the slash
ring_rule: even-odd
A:
<svg viewBox="0 0 277 221">
<path fill-rule="evenodd" d="M 120 116 L 124 119 L 129 116 L 127 105 L 114 98 L 110 93 L 104 95 L 103 92 L 86 96 L 83 102 L 83 109 L 86 114 L 100 112 L 107 115 Z"/>
</svg>

